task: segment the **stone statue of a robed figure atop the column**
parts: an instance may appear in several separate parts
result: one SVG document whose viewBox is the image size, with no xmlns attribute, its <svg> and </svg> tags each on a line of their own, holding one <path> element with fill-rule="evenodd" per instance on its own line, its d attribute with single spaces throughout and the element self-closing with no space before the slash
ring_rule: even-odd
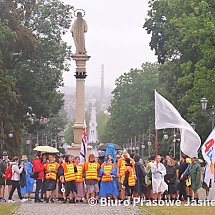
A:
<svg viewBox="0 0 215 215">
<path fill-rule="evenodd" d="M 78 12 L 77 19 L 74 21 L 71 28 L 72 37 L 76 47 L 76 53 L 75 53 L 76 55 L 87 53 L 85 48 L 85 37 L 84 37 L 84 33 L 86 33 L 87 30 L 88 30 L 87 23 L 83 19 L 82 13 Z"/>
</svg>

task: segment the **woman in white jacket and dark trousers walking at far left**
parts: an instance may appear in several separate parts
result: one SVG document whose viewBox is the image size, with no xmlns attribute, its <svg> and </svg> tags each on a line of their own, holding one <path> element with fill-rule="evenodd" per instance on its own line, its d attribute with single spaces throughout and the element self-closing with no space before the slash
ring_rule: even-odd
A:
<svg viewBox="0 0 215 215">
<path fill-rule="evenodd" d="M 15 157 L 13 157 L 12 163 L 11 163 L 12 189 L 11 189 L 10 194 L 9 194 L 8 203 L 14 203 L 15 202 L 14 200 L 12 200 L 12 196 L 13 196 L 13 193 L 16 189 L 17 189 L 18 196 L 19 196 L 20 200 L 22 202 L 27 201 L 27 199 L 24 199 L 22 197 L 21 192 L 20 192 L 20 174 L 23 171 L 24 165 L 22 165 L 20 168 L 18 165 L 19 165 L 19 158 L 17 156 L 15 156 Z"/>
</svg>

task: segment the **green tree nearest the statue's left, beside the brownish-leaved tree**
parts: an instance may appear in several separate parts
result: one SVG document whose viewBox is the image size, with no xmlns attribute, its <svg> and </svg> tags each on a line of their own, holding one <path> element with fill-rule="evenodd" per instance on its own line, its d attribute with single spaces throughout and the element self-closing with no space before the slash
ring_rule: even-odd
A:
<svg viewBox="0 0 215 215">
<path fill-rule="evenodd" d="M 34 58 L 17 66 L 16 78 L 23 104 L 34 107 L 37 115 L 56 114 L 63 104 L 63 95 L 56 89 L 63 85 L 62 73 L 69 70 L 71 49 L 62 34 L 70 26 L 71 10 L 59 0 L 40 0 L 30 19 L 25 20 L 37 38 L 37 46 Z"/>
</svg>

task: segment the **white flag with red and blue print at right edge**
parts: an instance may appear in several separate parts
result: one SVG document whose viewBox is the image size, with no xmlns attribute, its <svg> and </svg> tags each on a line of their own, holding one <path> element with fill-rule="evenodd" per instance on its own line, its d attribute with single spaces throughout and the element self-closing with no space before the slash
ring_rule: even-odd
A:
<svg viewBox="0 0 215 215">
<path fill-rule="evenodd" d="M 215 128 L 202 145 L 202 155 L 207 162 L 204 182 L 209 186 L 210 180 L 214 183 L 214 164 L 215 164 Z"/>
</svg>

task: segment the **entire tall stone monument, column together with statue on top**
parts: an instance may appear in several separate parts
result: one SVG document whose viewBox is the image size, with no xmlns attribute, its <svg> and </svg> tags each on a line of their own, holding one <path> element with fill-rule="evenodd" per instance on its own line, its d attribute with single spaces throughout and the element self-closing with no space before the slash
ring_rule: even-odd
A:
<svg viewBox="0 0 215 215">
<path fill-rule="evenodd" d="M 85 12 L 83 10 L 77 12 L 77 19 L 74 21 L 71 33 L 74 40 L 76 52 L 72 59 L 76 64 L 75 78 L 76 78 L 76 104 L 75 104 L 75 123 L 74 123 L 74 144 L 69 149 L 69 153 L 79 156 L 82 142 L 82 134 L 85 119 L 85 78 L 86 62 L 90 56 L 87 55 L 85 47 L 85 33 L 88 30 L 86 21 L 83 19 Z"/>
</svg>

